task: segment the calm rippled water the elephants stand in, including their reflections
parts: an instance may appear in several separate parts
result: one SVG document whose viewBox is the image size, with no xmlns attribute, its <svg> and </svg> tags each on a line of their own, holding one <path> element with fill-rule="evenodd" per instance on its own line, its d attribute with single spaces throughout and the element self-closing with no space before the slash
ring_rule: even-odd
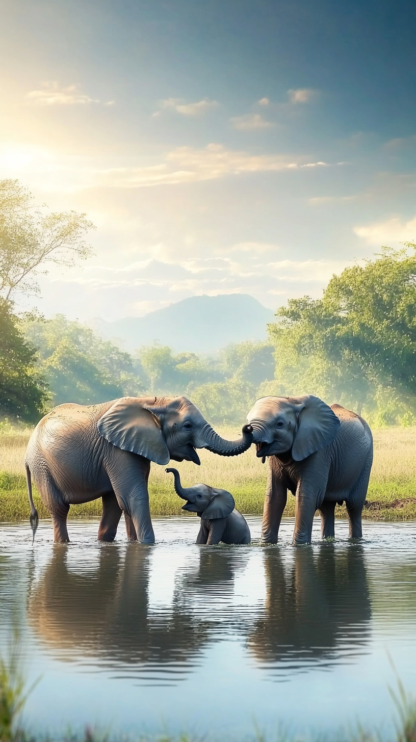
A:
<svg viewBox="0 0 416 742">
<path fill-rule="evenodd" d="M 416 523 L 365 522 L 363 544 L 198 547 L 197 518 L 155 519 L 157 545 L 70 545 L 0 525 L 0 646 L 19 623 L 33 731 L 276 738 L 391 726 L 395 672 L 416 693 Z M 46 727 L 46 729 L 45 729 Z"/>
</svg>

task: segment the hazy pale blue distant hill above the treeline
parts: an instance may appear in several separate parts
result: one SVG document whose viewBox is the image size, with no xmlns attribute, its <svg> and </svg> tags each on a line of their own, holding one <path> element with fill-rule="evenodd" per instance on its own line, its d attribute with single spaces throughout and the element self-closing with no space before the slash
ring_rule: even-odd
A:
<svg viewBox="0 0 416 742">
<path fill-rule="evenodd" d="M 175 351 L 211 353 L 229 343 L 265 340 L 273 312 L 248 294 L 192 296 L 143 317 L 89 323 L 103 338 L 120 338 L 127 350 L 155 340 Z"/>
</svg>

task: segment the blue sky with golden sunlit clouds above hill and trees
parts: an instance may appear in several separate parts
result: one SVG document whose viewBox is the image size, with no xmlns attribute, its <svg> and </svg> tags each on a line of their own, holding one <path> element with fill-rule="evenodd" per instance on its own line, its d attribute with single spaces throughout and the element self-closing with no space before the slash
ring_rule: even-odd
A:
<svg viewBox="0 0 416 742">
<path fill-rule="evenodd" d="M 82 321 L 192 295 L 276 309 L 416 240 L 416 4 L 0 0 L 0 179 L 85 212 L 42 277 Z"/>
</svg>

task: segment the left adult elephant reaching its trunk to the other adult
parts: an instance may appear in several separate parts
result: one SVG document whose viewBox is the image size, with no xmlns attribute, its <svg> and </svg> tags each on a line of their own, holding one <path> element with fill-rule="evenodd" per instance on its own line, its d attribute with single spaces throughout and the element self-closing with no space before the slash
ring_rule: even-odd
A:
<svg viewBox="0 0 416 742">
<path fill-rule="evenodd" d="M 98 538 L 113 541 L 122 512 L 129 539 L 152 544 L 149 510 L 150 462 L 199 464 L 195 448 L 236 456 L 253 441 L 226 441 L 215 433 L 195 404 L 185 397 L 122 397 L 82 407 L 60 404 L 33 430 L 25 467 L 33 538 L 39 522 L 31 476 L 50 510 L 56 542 L 68 542 L 70 505 L 103 499 Z"/>
</svg>

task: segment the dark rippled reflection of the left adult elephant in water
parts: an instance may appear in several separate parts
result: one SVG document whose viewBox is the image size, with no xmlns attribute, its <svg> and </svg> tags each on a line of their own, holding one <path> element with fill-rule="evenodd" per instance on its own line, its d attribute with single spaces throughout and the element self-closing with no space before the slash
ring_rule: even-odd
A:
<svg viewBox="0 0 416 742">
<path fill-rule="evenodd" d="M 74 658 L 108 663 L 176 663 L 192 660 L 207 641 L 208 626 L 173 604 L 149 610 L 152 552 L 117 545 L 100 549 L 94 571 L 77 574 L 68 550 L 56 545 L 29 598 L 30 625 L 39 637 Z"/>
</svg>

